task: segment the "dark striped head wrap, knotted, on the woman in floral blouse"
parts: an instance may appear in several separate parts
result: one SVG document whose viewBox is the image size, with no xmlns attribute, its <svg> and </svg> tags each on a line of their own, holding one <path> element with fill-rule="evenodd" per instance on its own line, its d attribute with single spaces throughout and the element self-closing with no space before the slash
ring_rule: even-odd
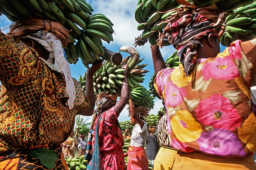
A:
<svg viewBox="0 0 256 170">
<path fill-rule="evenodd" d="M 175 22 L 168 23 L 164 33 L 174 48 L 178 49 L 178 56 L 180 63 L 184 66 L 186 77 L 194 67 L 197 49 L 203 47 L 198 39 L 210 33 L 218 36 L 213 23 L 207 20 L 204 15 L 196 12 L 183 15 Z"/>
</svg>

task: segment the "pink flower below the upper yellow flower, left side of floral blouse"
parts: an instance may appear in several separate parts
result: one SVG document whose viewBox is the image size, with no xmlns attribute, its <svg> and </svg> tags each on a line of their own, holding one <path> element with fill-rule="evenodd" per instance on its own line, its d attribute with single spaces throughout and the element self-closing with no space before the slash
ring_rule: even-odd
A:
<svg viewBox="0 0 256 170">
<path fill-rule="evenodd" d="M 169 80 L 165 86 L 165 105 L 170 107 L 176 107 L 183 102 L 183 98 L 186 96 L 187 92 L 185 88 L 178 88 L 172 80 Z"/>
</svg>

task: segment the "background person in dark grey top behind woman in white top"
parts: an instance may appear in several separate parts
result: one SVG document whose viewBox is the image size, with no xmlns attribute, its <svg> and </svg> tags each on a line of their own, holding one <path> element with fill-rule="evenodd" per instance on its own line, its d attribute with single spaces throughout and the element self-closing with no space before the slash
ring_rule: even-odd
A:
<svg viewBox="0 0 256 170">
<path fill-rule="evenodd" d="M 154 165 L 155 156 L 160 148 L 157 136 L 155 135 L 155 127 L 149 126 L 148 136 L 146 139 L 147 157 L 151 162 L 151 166 Z"/>
</svg>

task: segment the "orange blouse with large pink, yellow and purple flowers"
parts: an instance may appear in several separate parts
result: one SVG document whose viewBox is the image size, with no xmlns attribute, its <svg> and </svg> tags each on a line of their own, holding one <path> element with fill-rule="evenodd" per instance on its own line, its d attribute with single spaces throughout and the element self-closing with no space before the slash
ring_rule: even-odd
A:
<svg viewBox="0 0 256 170">
<path fill-rule="evenodd" d="M 188 77 L 182 65 L 157 73 L 154 87 L 165 102 L 172 147 L 225 157 L 253 154 L 256 118 L 250 87 L 256 85 L 256 56 L 248 52 L 256 44 L 252 41 L 245 53 L 238 40 L 215 58 L 197 59 Z"/>
</svg>

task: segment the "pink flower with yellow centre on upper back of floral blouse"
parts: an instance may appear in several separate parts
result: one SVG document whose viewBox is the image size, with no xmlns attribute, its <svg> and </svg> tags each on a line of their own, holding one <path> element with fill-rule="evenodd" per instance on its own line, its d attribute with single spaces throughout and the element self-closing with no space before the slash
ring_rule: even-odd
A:
<svg viewBox="0 0 256 170">
<path fill-rule="evenodd" d="M 210 78 L 226 80 L 239 77 L 240 73 L 230 56 L 226 56 L 224 58 L 216 57 L 206 60 L 202 68 L 202 76 L 204 81 L 208 81 Z"/>
</svg>

